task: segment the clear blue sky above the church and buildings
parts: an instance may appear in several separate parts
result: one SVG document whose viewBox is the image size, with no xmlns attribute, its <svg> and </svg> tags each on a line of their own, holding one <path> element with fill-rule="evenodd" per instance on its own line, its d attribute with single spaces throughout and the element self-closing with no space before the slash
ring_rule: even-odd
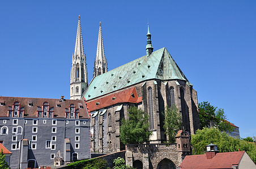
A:
<svg viewBox="0 0 256 169">
<path fill-rule="evenodd" d="M 69 98 L 81 16 L 89 81 L 102 23 L 109 70 L 166 47 L 198 91 L 241 137 L 256 136 L 256 1 L 0 0 L 0 95 Z"/>
</svg>

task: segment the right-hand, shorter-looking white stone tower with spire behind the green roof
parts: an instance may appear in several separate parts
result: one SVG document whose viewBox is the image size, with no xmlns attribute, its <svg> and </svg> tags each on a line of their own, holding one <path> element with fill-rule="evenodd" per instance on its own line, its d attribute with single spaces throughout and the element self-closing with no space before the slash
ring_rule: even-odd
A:
<svg viewBox="0 0 256 169">
<path fill-rule="evenodd" d="M 96 59 L 94 61 L 93 77 L 96 77 L 97 75 L 101 75 L 106 72 L 108 72 L 108 64 L 106 63 L 106 58 L 105 58 L 103 37 L 102 37 L 102 31 L 101 31 L 101 22 L 100 22 Z"/>
</svg>

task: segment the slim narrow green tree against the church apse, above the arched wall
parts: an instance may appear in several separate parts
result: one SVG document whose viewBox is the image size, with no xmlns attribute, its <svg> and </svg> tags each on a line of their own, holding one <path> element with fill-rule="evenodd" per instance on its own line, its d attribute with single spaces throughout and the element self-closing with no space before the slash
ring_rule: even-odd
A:
<svg viewBox="0 0 256 169">
<path fill-rule="evenodd" d="M 175 143 L 175 136 L 182 127 L 181 114 L 176 105 L 166 107 L 164 118 L 164 133 L 168 135 L 169 143 Z"/>
</svg>

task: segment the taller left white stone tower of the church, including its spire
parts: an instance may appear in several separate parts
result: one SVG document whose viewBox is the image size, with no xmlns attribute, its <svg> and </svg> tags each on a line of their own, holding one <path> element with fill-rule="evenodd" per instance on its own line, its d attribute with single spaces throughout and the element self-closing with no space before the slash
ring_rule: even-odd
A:
<svg viewBox="0 0 256 169">
<path fill-rule="evenodd" d="M 76 33 L 75 52 L 72 56 L 70 73 L 70 99 L 77 100 L 83 95 L 88 86 L 86 55 L 84 54 L 80 15 Z"/>
</svg>

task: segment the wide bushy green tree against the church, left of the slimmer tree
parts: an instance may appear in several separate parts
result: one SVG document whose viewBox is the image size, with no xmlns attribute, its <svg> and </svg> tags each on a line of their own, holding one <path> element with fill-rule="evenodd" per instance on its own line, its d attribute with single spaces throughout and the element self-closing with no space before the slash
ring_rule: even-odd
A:
<svg viewBox="0 0 256 169">
<path fill-rule="evenodd" d="M 128 112 L 129 119 L 122 119 L 120 139 L 123 144 L 142 144 L 152 134 L 149 131 L 148 115 L 136 107 L 130 107 Z"/>
</svg>

